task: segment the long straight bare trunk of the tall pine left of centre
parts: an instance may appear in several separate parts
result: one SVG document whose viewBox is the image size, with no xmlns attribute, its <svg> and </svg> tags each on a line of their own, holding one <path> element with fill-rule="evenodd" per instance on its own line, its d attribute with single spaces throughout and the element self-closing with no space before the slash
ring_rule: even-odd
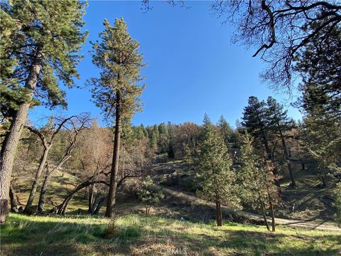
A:
<svg viewBox="0 0 341 256">
<path fill-rule="evenodd" d="M 105 211 L 105 217 L 111 218 L 114 215 L 114 207 L 116 203 L 117 195 L 117 174 L 119 171 L 119 142 L 121 134 L 121 105 L 120 94 L 117 92 L 116 99 L 116 119 L 115 119 L 115 134 L 114 134 L 114 151 L 112 156 L 112 171 L 110 175 L 109 194 L 107 199 L 107 210 Z"/>
</svg>

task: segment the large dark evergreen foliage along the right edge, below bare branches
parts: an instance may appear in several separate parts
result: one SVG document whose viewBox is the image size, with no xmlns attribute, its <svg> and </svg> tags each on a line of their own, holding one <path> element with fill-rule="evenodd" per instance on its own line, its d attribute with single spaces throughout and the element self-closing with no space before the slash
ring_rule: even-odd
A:
<svg viewBox="0 0 341 256">
<path fill-rule="evenodd" d="M 319 26 L 312 23 L 310 28 Z M 297 105 L 303 109 L 305 148 L 318 165 L 323 185 L 330 172 L 341 171 L 341 28 L 327 26 L 328 36 L 314 36 L 301 50 L 296 70 L 303 81 Z"/>
</svg>

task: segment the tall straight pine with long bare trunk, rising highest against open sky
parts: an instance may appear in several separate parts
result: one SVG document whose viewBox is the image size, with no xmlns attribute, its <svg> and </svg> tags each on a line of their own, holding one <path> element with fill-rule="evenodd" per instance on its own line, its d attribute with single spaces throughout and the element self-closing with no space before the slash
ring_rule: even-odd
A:
<svg viewBox="0 0 341 256">
<path fill-rule="evenodd" d="M 114 152 L 110 176 L 106 217 L 114 214 L 117 194 L 117 173 L 119 171 L 119 146 L 121 120 L 131 119 L 136 111 L 141 110 L 139 96 L 144 89 L 139 82 L 142 55 L 139 43 L 131 38 L 123 18 L 116 19 L 114 26 L 104 20 L 104 31 L 99 33 L 100 41 L 93 44 L 92 62 L 102 72 L 99 78 L 92 78 L 92 95 L 105 117 L 114 118 Z"/>
</svg>

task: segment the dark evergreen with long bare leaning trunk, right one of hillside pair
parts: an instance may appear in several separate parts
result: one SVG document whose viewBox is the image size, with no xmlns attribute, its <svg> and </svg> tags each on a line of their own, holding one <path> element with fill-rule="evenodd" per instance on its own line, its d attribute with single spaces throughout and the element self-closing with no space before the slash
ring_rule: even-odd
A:
<svg viewBox="0 0 341 256">
<path fill-rule="evenodd" d="M 293 121 L 288 118 L 288 110 L 283 110 L 283 106 L 280 105 L 273 97 L 268 97 L 266 104 L 268 106 L 269 127 L 272 129 L 272 132 L 278 134 L 281 138 L 283 153 L 286 157 L 286 165 L 288 166 L 288 172 L 291 178 L 291 187 L 295 188 L 296 181 L 293 176 L 288 146 L 286 145 L 286 132 L 293 129 Z"/>
</svg>

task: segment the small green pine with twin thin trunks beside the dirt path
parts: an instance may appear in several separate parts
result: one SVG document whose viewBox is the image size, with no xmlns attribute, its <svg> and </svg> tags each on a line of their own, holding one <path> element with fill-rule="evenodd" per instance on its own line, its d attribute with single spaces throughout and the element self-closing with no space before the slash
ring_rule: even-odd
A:
<svg viewBox="0 0 341 256">
<path fill-rule="evenodd" d="M 272 220 L 272 231 L 275 231 L 274 206 L 279 201 L 278 188 L 275 185 L 276 176 L 272 173 L 271 161 L 262 159 L 252 146 L 249 134 L 243 137 L 242 168 L 239 171 L 239 179 L 242 181 L 242 198 L 251 208 L 259 211 L 270 230 L 266 219 L 266 210 L 269 209 Z"/>
</svg>

